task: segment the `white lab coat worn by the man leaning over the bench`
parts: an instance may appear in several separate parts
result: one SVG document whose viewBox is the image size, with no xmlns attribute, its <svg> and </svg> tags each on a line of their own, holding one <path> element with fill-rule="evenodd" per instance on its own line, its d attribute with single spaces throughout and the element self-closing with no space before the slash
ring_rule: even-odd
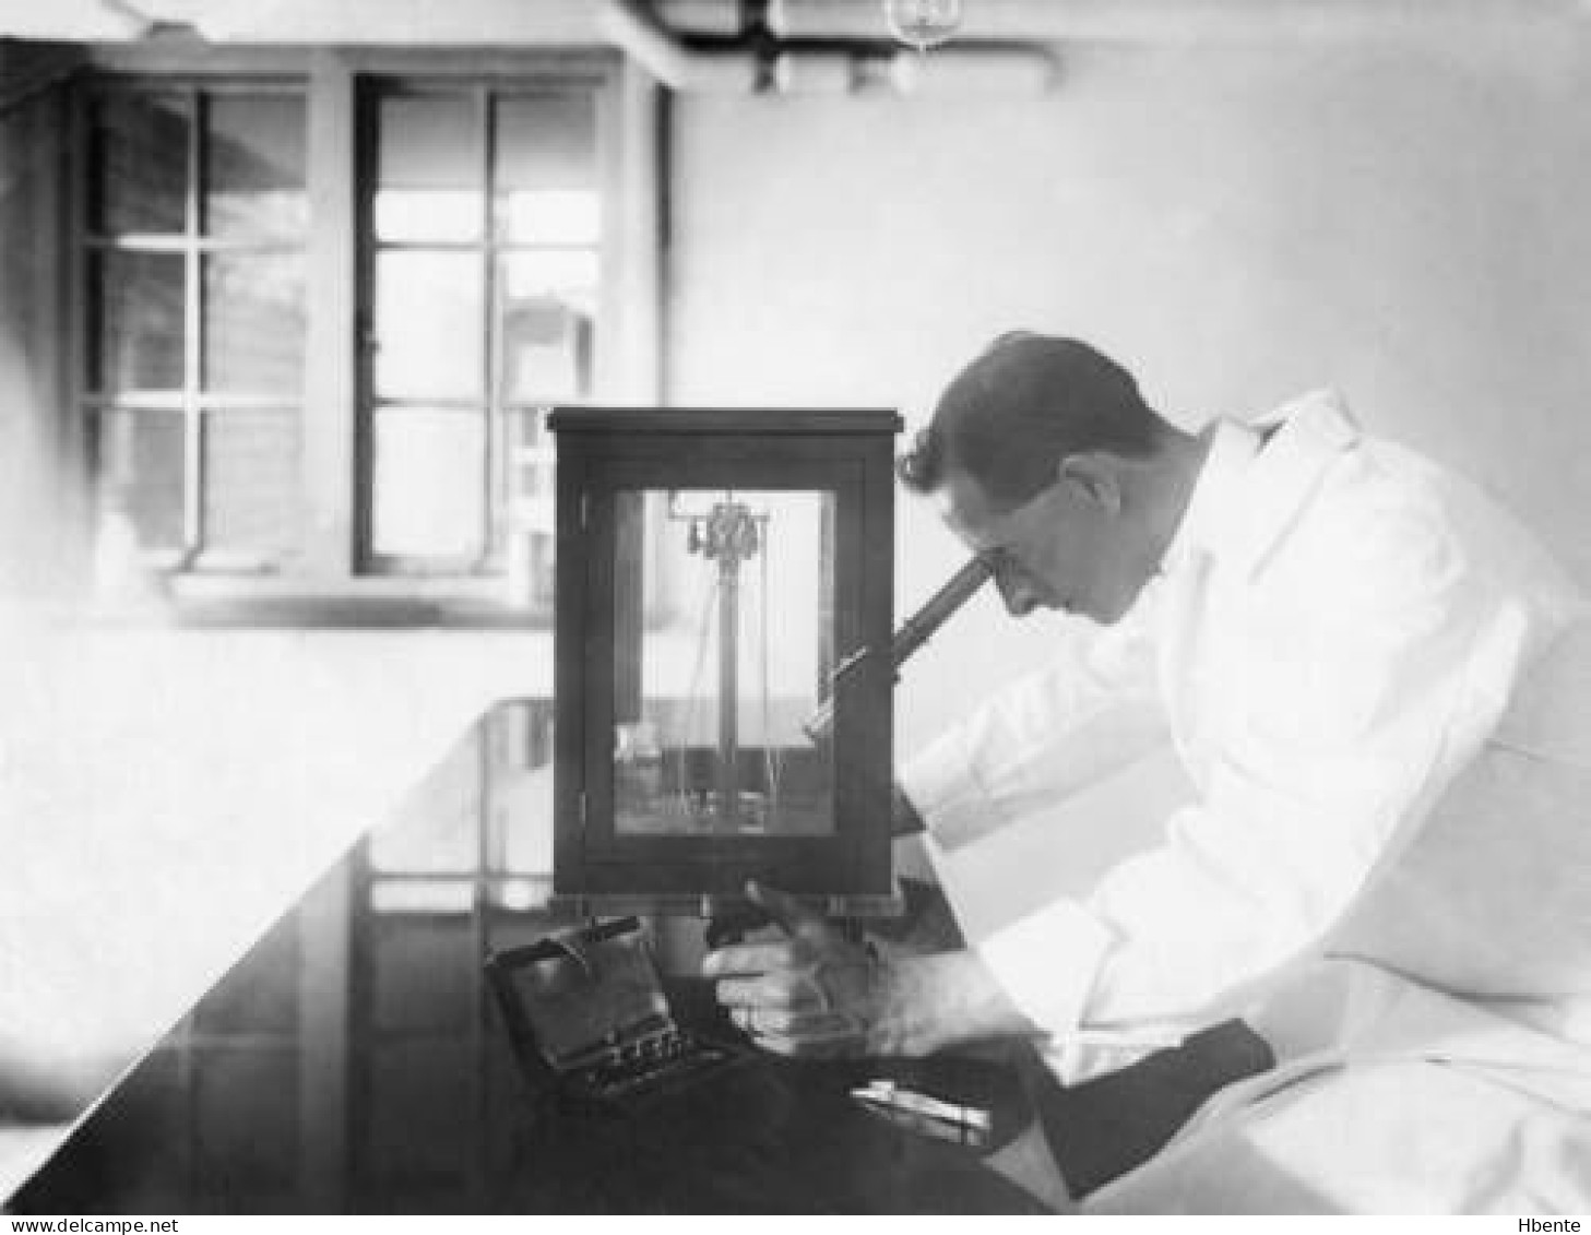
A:
<svg viewBox="0 0 1591 1235">
<path fill-rule="evenodd" d="M 1566 576 L 1480 492 L 1317 393 L 1217 425 L 1133 611 L 904 770 L 948 848 L 1166 737 L 1195 788 L 1158 848 L 977 944 L 1055 1034 L 1063 1079 L 1131 1062 L 1146 1031 L 1233 1014 L 1278 1052 L 1095 1205 L 1483 1208 L 1476 1170 L 1499 1197 L 1524 1178 L 1484 1175 L 1497 1136 L 1518 1147 L 1510 1103 L 1532 1119 L 1546 1103 L 1581 1138 L 1531 1170 L 1591 1149 L 1591 724 L 1588 689 L 1564 688 L 1577 665 L 1591 688 L 1583 621 Z M 1546 654 L 1556 668 L 1532 673 Z M 1122 1046 L 1069 1044 L 1077 1028 Z M 1368 1060 L 1389 1089 L 1367 1084 Z M 1265 1119 L 1286 1133 L 1257 1146 Z M 1445 1146 L 1419 1186 L 1398 1181 L 1411 1143 Z M 1550 1176 L 1542 1195 L 1591 1208 L 1591 1165 Z"/>
</svg>

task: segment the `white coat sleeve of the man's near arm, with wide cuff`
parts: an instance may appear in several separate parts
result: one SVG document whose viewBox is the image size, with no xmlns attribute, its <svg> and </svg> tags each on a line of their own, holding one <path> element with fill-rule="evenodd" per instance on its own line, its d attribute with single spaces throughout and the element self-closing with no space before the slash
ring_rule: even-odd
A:
<svg viewBox="0 0 1591 1235">
<path fill-rule="evenodd" d="M 1478 750 L 1523 616 L 1468 576 L 1438 524 L 1370 532 L 1343 528 L 1282 589 L 1287 637 L 1231 684 L 1251 695 L 1241 732 L 1219 735 L 1201 801 L 1169 820 L 1165 843 L 1087 902 L 980 945 L 1034 1022 L 1060 1034 L 1192 1028 L 1239 1011 L 1252 980 L 1327 933 Z M 1080 971 L 1079 941 L 1101 934 Z"/>
</svg>

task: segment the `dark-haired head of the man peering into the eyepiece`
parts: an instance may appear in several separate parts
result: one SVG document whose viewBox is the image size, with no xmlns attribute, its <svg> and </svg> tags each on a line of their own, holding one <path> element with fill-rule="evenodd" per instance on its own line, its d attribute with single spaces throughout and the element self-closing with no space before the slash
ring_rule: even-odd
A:
<svg viewBox="0 0 1591 1235">
<path fill-rule="evenodd" d="M 945 388 L 901 479 L 939 500 L 1013 616 L 1114 622 L 1160 567 L 1195 444 L 1087 344 L 1006 334 Z"/>
</svg>

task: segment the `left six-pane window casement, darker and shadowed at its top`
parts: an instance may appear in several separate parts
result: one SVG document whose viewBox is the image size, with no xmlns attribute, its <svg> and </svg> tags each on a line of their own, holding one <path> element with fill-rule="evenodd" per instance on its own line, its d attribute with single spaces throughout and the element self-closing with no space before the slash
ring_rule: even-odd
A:
<svg viewBox="0 0 1591 1235">
<path fill-rule="evenodd" d="M 167 570 L 278 568 L 298 543 L 304 99 L 102 89 L 86 129 L 102 530 Z"/>
</svg>

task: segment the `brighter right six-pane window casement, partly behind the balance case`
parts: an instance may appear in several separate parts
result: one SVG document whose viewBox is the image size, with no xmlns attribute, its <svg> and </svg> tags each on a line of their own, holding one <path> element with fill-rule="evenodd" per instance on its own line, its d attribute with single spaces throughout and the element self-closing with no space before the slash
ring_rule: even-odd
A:
<svg viewBox="0 0 1591 1235">
<path fill-rule="evenodd" d="M 366 565 L 550 602 L 541 409 L 585 398 L 601 279 L 590 86 L 377 86 L 366 142 Z"/>
</svg>

